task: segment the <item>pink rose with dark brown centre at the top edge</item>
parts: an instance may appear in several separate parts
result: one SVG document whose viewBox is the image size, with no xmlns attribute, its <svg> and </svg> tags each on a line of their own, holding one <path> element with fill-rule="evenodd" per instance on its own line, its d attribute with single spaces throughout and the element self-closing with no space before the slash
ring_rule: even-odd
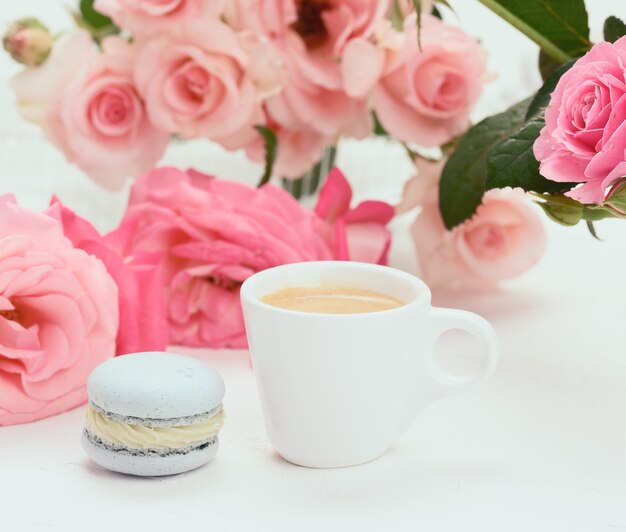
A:
<svg viewBox="0 0 626 532">
<path fill-rule="evenodd" d="M 359 89 L 373 84 L 371 78 L 380 71 L 368 40 L 388 7 L 388 0 L 273 0 L 263 2 L 257 16 L 250 7 L 252 19 L 239 17 L 267 32 L 283 52 L 285 88 L 267 103 L 282 127 L 313 128 L 333 139 L 364 138 L 371 132 L 367 92 Z M 267 13 L 277 16 L 268 19 Z"/>
</svg>

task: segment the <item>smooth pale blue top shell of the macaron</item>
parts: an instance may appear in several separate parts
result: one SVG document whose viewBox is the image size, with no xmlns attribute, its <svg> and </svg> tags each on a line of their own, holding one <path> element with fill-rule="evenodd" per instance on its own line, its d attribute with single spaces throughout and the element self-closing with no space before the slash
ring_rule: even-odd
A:
<svg viewBox="0 0 626 532">
<path fill-rule="evenodd" d="M 170 419 L 213 410 L 224 398 L 224 381 L 193 358 L 148 352 L 107 360 L 89 376 L 87 392 L 105 412 Z"/>
</svg>

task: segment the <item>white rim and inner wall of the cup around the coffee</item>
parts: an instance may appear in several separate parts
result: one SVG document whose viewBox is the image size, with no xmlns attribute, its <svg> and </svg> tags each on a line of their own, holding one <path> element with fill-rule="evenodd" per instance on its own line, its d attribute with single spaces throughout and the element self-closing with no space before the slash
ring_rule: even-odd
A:
<svg viewBox="0 0 626 532">
<path fill-rule="evenodd" d="M 256 289 L 258 289 L 258 285 L 263 283 L 267 278 L 275 276 L 280 271 L 291 270 L 291 269 L 315 269 L 316 267 L 320 267 L 324 265 L 324 267 L 328 267 L 329 265 L 337 266 L 338 268 L 350 268 L 354 270 L 368 270 L 368 271 L 377 271 L 381 274 L 385 275 L 393 275 L 396 278 L 401 279 L 402 281 L 407 282 L 412 285 L 415 289 L 417 296 L 410 301 L 405 301 L 404 305 L 400 307 L 395 307 L 386 310 L 377 310 L 374 312 L 362 312 L 362 313 L 346 313 L 346 314 L 328 314 L 321 312 L 304 312 L 300 310 L 291 310 L 285 309 L 281 307 L 276 307 L 274 305 L 270 305 L 268 303 L 264 303 L 261 300 L 261 297 L 271 293 L 268 291 L 263 295 L 254 295 Z M 287 286 L 286 286 L 287 287 Z M 286 288 L 285 287 L 285 288 Z M 326 261 L 306 261 L 306 262 L 293 262 L 290 264 L 282 264 L 280 266 L 274 266 L 272 268 L 267 268 L 265 270 L 261 270 L 256 272 L 255 274 L 248 277 L 243 284 L 241 285 L 240 297 L 242 301 L 250 305 L 256 305 L 265 310 L 270 310 L 272 312 L 278 312 L 282 314 L 288 315 L 298 315 L 298 316 L 318 316 L 325 317 L 328 319 L 358 319 L 365 318 L 367 316 L 372 316 L 376 314 L 385 314 L 388 315 L 390 313 L 401 313 L 406 312 L 407 310 L 413 309 L 415 307 L 420 307 L 423 305 L 429 305 L 431 300 L 431 292 L 428 288 L 428 285 L 422 281 L 419 277 L 416 277 L 413 274 L 408 272 L 398 270 L 396 268 L 392 268 L 390 266 L 383 266 L 381 264 L 371 264 L 368 262 L 357 262 L 357 261 L 334 261 L 334 260 L 326 260 Z"/>
</svg>

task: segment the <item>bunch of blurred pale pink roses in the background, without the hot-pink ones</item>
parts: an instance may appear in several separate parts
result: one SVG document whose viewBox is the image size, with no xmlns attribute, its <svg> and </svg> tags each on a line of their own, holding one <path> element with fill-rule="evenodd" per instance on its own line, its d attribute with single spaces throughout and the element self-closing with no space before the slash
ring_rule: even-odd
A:
<svg viewBox="0 0 626 532">
<path fill-rule="evenodd" d="M 297 195 L 308 171 L 313 188 L 323 180 L 340 139 L 384 135 L 416 165 L 399 211 L 423 206 L 427 281 L 493 284 L 540 257 L 521 193 L 490 194 L 517 215 L 485 207 L 452 233 L 437 214 L 443 163 L 487 76 L 477 40 L 432 2 L 95 0 L 74 18 L 80 29 L 54 43 L 18 22 L 5 46 L 29 65 L 12 81 L 24 117 L 103 186 L 152 168 L 172 138 L 205 138 Z"/>
</svg>

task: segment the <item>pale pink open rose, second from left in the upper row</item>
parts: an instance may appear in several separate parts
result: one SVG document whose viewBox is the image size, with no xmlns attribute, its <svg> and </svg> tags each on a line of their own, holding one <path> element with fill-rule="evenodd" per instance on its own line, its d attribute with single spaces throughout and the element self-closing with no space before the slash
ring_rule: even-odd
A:
<svg viewBox="0 0 626 532">
<path fill-rule="evenodd" d="M 204 19 L 173 26 L 141 46 L 135 80 L 159 129 L 208 137 L 228 149 L 254 141 L 253 126 L 263 120 L 260 100 L 275 91 L 268 87 L 272 73 L 255 68 L 242 48 L 249 36 L 240 38 L 222 22 Z M 279 83 L 282 64 L 268 65 Z"/>
</svg>

